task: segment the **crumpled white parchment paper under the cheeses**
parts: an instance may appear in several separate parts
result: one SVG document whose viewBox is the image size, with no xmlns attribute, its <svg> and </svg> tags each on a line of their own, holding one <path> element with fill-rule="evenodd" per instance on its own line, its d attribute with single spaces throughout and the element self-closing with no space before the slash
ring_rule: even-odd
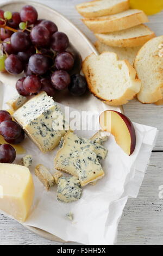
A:
<svg viewBox="0 0 163 256">
<path fill-rule="evenodd" d="M 15 89 L 0 87 L 1 108 L 7 109 L 5 102 L 10 99 Z M 89 102 L 91 111 L 101 113 L 109 106 L 91 96 Z M 89 105 L 87 105 L 89 106 Z M 81 110 L 80 105 L 78 109 Z M 70 112 L 73 109 L 70 108 Z M 87 110 L 90 110 L 87 107 Z M 34 175 L 36 164 L 45 164 L 51 173 L 55 172 L 53 162 L 55 149 L 52 153 L 43 154 L 30 141 L 23 142 L 27 154 L 33 155 L 33 164 L 29 168 L 33 174 L 35 184 L 35 198 L 33 209 L 25 224 L 48 231 L 66 241 L 76 241 L 85 245 L 112 245 L 116 242 L 117 227 L 128 197 L 137 197 L 145 175 L 149 157 L 155 144 L 157 129 L 134 123 L 136 131 L 136 148 L 131 156 L 127 156 L 110 136 L 105 147 L 108 156 L 102 162 L 105 172 L 103 179 L 95 186 L 87 185 L 83 188 L 79 201 L 64 204 L 58 202 L 57 186 L 46 191 L 41 182 Z M 90 138 L 95 131 L 78 131 L 78 135 Z M 15 163 L 20 163 L 21 155 L 17 155 Z M 66 214 L 73 213 L 73 221 Z"/>
</svg>

